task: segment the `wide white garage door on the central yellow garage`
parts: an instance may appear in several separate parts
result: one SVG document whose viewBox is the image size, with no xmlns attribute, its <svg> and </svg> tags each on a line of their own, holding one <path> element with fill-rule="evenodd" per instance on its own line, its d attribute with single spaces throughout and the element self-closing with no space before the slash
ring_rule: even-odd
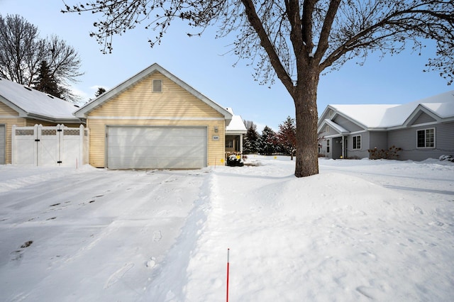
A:
<svg viewBox="0 0 454 302">
<path fill-rule="evenodd" d="M 206 167 L 206 127 L 108 126 L 110 169 Z"/>
</svg>

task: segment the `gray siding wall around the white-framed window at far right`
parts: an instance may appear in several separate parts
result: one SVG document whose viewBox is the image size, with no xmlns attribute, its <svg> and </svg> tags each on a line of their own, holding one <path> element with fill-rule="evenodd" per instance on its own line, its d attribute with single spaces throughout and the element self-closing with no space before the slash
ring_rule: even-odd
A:
<svg viewBox="0 0 454 302">
<path fill-rule="evenodd" d="M 435 147 L 417 147 L 417 131 L 430 128 L 435 129 Z M 388 144 L 402 148 L 399 160 L 421 161 L 454 155 L 454 122 L 392 130 L 388 134 Z"/>
</svg>

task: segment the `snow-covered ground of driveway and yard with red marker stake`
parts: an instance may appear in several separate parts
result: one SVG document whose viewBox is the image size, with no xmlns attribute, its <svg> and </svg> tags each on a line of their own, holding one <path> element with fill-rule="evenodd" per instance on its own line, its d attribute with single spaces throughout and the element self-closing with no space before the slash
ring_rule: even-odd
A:
<svg viewBox="0 0 454 302">
<path fill-rule="evenodd" d="M 1 301 L 452 301 L 454 164 L 0 166 Z"/>
</svg>

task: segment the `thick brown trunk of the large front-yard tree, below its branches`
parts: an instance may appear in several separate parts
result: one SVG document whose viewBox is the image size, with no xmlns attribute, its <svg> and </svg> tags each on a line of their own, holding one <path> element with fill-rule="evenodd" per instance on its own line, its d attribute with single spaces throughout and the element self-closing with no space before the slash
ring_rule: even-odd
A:
<svg viewBox="0 0 454 302">
<path fill-rule="evenodd" d="M 305 72 L 299 77 L 298 86 L 293 96 L 297 120 L 297 160 L 296 177 L 308 177 L 319 174 L 319 155 L 317 145 L 317 87 L 319 73 Z"/>
</svg>

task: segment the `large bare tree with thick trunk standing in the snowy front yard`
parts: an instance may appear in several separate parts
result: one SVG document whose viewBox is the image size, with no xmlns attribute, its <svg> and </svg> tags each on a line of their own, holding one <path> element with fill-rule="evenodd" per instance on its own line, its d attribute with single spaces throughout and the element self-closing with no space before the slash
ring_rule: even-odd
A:
<svg viewBox="0 0 454 302">
<path fill-rule="evenodd" d="M 292 96 L 297 121 L 295 176 L 319 173 L 317 87 L 320 75 L 370 52 L 420 53 L 428 40 L 437 52 L 426 69 L 454 78 L 453 0 L 96 0 L 63 12 L 99 13 L 92 36 L 111 52 L 112 37 L 144 23 L 160 43 L 172 21 L 182 19 L 199 35 L 218 26 L 233 34 L 233 52 L 250 60 L 261 84 L 277 77 Z"/>
</svg>

